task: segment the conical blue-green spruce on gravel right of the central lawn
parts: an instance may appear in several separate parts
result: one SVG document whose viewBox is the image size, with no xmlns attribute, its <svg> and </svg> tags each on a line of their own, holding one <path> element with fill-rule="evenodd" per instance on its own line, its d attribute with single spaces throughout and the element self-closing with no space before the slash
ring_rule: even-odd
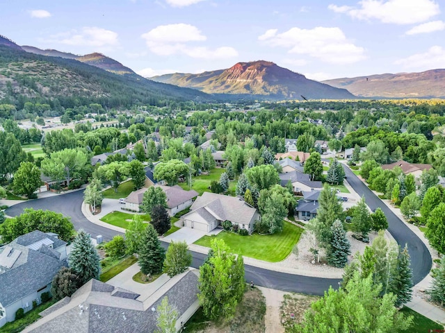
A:
<svg viewBox="0 0 445 333">
<path fill-rule="evenodd" d="M 334 267 L 343 268 L 348 262 L 348 255 L 350 255 L 350 243 L 339 219 L 332 223 L 331 234 L 332 239 L 327 254 L 327 263 Z"/>
</svg>

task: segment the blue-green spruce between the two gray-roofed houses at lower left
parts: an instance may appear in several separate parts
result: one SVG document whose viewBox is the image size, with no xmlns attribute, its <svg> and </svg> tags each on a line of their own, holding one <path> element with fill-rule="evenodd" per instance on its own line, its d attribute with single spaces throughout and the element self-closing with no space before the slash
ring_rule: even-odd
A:
<svg viewBox="0 0 445 333">
<path fill-rule="evenodd" d="M 72 250 L 68 257 L 68 265 L 79 276 L 80 284 L 86 284 L 91 279 L 99 280 L 100 258 L 90 235 L 79 230 L 72 242 Z"/>
</svg>

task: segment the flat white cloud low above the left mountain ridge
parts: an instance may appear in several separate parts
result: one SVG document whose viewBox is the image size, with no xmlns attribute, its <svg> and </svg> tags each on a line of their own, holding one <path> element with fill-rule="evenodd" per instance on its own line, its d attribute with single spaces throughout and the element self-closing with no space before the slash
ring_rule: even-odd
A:
<svg viewBox="0 0 445 333">
<path fill-rule="evenodd" d="M 118 45 L 118 34 L 104 28 L 86 26 L 81 31 L 72 30 L 52 35 L 47 42 L 75 46 L 115 46 Z"/>
</svg>

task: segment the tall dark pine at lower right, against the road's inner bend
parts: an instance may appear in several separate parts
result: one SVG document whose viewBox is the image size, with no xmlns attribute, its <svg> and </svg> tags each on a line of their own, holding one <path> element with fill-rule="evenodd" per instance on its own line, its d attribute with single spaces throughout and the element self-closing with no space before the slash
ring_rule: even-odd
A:
<svg viewBox="0 0 445 333">
<path fill-rule="evenodd" d="M 401 307 L 412 299 L 412 270 L 407 244 L 403 250 L 399 250 L 396 276 L 390 284 L 389 291 L 397 296 L 394 303 L 396 307 Z"/>
</svg>

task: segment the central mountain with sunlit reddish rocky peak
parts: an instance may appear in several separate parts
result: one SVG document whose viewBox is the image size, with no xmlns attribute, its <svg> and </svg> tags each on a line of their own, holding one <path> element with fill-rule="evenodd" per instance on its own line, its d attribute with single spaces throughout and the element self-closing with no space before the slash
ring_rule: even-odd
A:
<svg viewBox="0 0 445 333">
<path fill-rule="evenodd" d="M 266 95 L 274 99 L 353 99 L 339 89 L 305 78 L 302 74 L 264 60 L 238 62 L 229 69 L 201 74 L 165 74 L 151 80 L 199 89 L 209 94 Z"/>
</svg>

